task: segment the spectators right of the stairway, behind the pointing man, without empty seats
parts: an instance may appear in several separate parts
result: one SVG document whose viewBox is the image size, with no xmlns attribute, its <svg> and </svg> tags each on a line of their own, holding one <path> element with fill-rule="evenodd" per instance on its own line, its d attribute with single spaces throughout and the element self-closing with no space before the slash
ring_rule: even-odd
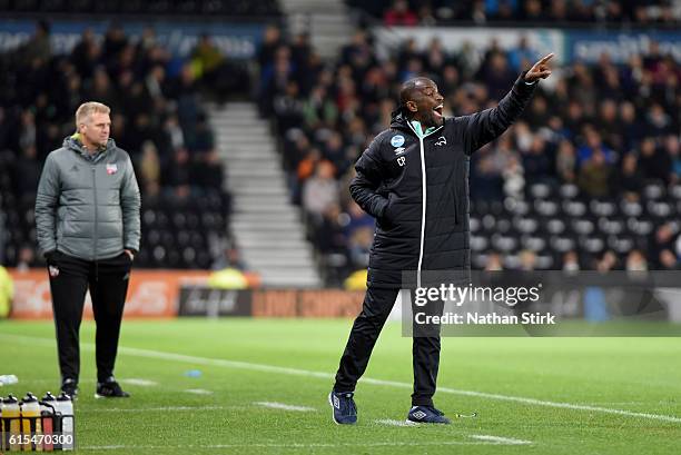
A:
<svg viewBox="0 0 681 455">
<path fill-rule="evenodd" d="M 358 30 L 329 66 L 319 62 L 305 36 L 288 41 L 277 29 L 268 30 L 259 53 L 260 107 L 277 119 L 292 192 L 330 268 L 366 266 L 373 220 L 345 188 L 354 161 L 389 125 L 399 85 L 426 75 L 445 96 L 448 115 L 467 115 L 495 106 L 537 57 L 524 40 L 510 51 L 492 41 L 476 59 L 465 44 L 450 53 L 434 39 L 423 50 L 407 40 L 382 60 L 371 34 Z M 551 79 L 540 85 L 522 120 L 475 155 L 474 208 L 478 200 L 523 198 L 536 182 L 573 185 L 583 200 L 632 202 L 641 200 L 649 181 L 681 184 L 681 65 L 655 42 L 624 65 L 603 55 L 595 65 L 556 68 Z M 672 235 L 663 236 L 663 248 L 654 240 L 657 230 L 635 244 L 648 253 L 653 247 L 668 251 L 664 259 L 645 256 L 651 268 L 677 267 L 679 226 L 672 222 L 664 230 Z M 579 266 L 594 269 L 601 255 L 579 255 Z M 618 256 L 623 268 L 625 255 Z"/>
</svg>

